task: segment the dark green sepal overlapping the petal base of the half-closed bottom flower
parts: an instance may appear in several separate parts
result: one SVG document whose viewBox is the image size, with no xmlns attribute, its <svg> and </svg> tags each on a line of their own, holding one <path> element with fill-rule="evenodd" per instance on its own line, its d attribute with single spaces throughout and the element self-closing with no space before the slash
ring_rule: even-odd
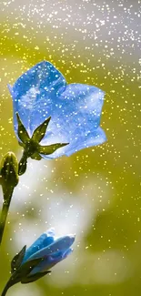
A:
<svg viewBox="0 0 141 296">
<path fill-rule="evenodd" d="M 28 260 L 24 264 L 22 264 L 17 270 L 17 276 L 20 279 L 25 278 L 44 258 L 37 258 L 34 260 Z"/>
</svg>

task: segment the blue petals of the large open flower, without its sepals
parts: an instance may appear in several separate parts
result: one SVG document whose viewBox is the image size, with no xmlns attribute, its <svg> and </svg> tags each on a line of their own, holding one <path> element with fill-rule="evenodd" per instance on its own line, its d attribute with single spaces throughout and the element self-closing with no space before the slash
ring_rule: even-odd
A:
<svg viewBox="0 0 141 296">
<path fill-rule="evenodd" d="M 104 92 L 98 87 L 73 83 L 51 63 L 38 63 L 9 86 L 14 104 L 15 135 L 18 140 L 18 113 L 32 137 L 35 128 L 51 117 L 41 145 L 68 143 L 43 158 L 70 156 L 76 151 L 102 144 L 106 135 L 100 125 Z"/>
</svg>

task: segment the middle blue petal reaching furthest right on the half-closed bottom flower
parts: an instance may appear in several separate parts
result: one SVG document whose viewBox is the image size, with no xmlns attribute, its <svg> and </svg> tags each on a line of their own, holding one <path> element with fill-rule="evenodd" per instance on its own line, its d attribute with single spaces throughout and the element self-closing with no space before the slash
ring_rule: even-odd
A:
<svg viewBox="0 0 141 296">
<path fill-rule="evenodd" d="M 75 241 L 75 236 L 65 236 L 58 240 L 55 240 L 51 245 L 41 250 L 36 251 L 28 260 L 44 258 L 50 255 L 55 254 L 57 251 L 65 252 L 65 250 L 69 249 L 73 242 Z"/>
</svg>

